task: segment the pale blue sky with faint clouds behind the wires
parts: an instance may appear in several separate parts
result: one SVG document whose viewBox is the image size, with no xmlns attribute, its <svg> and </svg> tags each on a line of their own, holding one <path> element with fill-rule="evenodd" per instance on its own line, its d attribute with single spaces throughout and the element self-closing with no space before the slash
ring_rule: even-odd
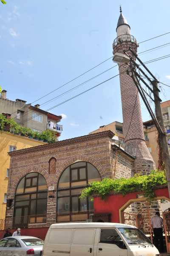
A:
<svg viewBox="0 0 170 256">
<path fill-rule="evenodd" d="M 7 0 L 6 5 L 1 4 L 0 84 L 8 91 L 8 99 L 33 102 L 111 57 L 120 3 L 138 42 L 170 31 L 168 0 Z M 169 42 L 167 34 L 140 44 L 138 51 Z M 167 54 L 170 45 L 140 58 L 147 61 Z M 110 59 L 34 104 L 42 104 L 113 65 Z M 147 66 L 161 82 L 170 85 L 170 58 Z M 116 74 L 117 67 L 41 108 L 46 110 Z M 162 85 L 161 99 L 170 99 L 170 88 Z M 60 139 L 88 134 L 115 120 L 121 122 L 119 77 L 51 112 L 65 114 Z M 144 121 L 150 119 L 143 103 L 142 117 Z"/>
</svg>

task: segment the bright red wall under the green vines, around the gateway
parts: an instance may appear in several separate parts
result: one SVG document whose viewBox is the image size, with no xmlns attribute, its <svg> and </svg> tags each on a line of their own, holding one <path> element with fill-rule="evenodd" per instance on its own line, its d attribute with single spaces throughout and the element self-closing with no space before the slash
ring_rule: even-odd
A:
<svg viewBox="0 0 170 256">
<path fill-rule="evenodd" d="M 154 190 L 157 196 L 169 197 L 167 188 L 158 188 Z M 100 197 L 94 197 L 94 213 L 111 213 L 111 222 L 120 222 L 119 209 L 125 205 L 130 199 L 136 199 L 136 195 L 143 193 L 142 191 L 127 193 L 125 196 L 122 193 L 109 195 L 105 200 Z"/>
</svg>

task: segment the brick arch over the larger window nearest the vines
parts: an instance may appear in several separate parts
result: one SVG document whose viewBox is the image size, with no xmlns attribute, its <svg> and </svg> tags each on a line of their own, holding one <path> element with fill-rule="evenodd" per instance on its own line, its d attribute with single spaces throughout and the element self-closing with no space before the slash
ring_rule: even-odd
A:
<svg viewBox="0 0 170 256">
<path fill-rule="evenodd" d="M 105 171 L 102 168 L 102 165 L 100 165 L 100 163 L 97 162 L 93 157 L 91 157 L 91 156 L 83 156 L 83 155 L 77 154 L 76 156 L 73 156 L 73 157 L 69 158 L 68 160 L 66 160 L 60 166 L 60 168 L 57 170 L 57 173 L 55 174 L 54 181 L 53 181 L 53 185 L 55 186 L 55 189 L 57 188 L 57 183 L 58 183 L 59 177 L 61 176 L 62 172 L 69 165 L 73 164 L 77 160 L 82 161 L 82 162 L 89 162 L 90 164 L 94 165 L 94 167 L 96 167 L 97 171 L 99 172 L 101 178 L 102 179 L 106 178 Z"/>
</svg>

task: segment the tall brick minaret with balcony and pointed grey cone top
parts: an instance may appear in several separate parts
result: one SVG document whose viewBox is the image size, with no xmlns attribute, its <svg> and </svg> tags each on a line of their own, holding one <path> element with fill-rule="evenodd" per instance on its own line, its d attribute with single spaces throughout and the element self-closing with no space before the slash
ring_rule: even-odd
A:
<svg viewBox="0 0 170 256">
<path fill-rule="evenodd" d="M 124 51 L 126 51 L 131 57 L 130 51 L 128 51 L 129 47 L 136 53 L 138 45 L 135 37 L 130 34 L 130 26 L 122 15 L 121 7 L 116 32 L 117 37 L 113 42 L 113 54 L 125 54 Z M 129 70 L 128 63 L 119 63 L 125 151 L 136 156 L 133 164 L 134 174 L 149 174 L 156 167 L 144 140 L 139 92 L 132 78 L 127 74 L 127 70 Z"/>
</svg>

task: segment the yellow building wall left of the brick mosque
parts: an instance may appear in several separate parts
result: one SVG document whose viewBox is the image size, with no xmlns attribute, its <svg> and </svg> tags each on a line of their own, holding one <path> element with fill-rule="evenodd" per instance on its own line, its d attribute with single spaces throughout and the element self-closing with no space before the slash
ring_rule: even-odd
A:
<svg viewBox="0 0 170 256">
<path fill-rule="evenodd" d="M 42 141 L 0 131 L 0 219 L 5 219 L 6 214 L 7 188 L 10 176 L 8 152 L 44 144 L 45 142 Z"/>
</svg>

